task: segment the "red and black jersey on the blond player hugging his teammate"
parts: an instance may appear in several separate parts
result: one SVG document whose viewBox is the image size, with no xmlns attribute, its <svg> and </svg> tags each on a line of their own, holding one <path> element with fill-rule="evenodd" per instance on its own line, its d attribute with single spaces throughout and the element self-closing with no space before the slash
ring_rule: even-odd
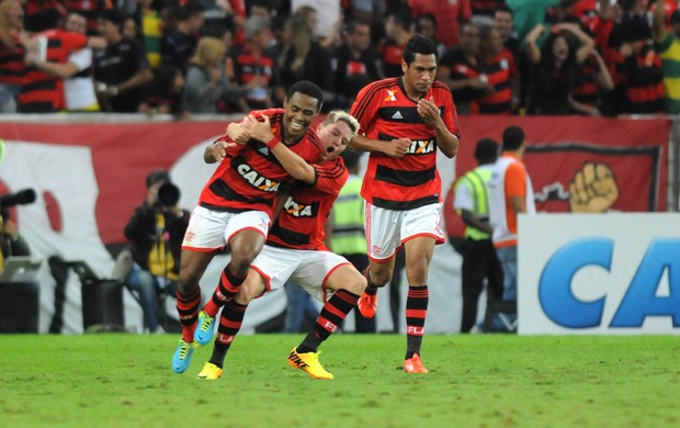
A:
<svg viewBox="0 0 680 428">
<path fill-rule="evenodd" d="M 324 245 L 326 218 L 349 178 L 341 157 L 315 165 L 317 180 L 311 187 L 299 184 L 274 221 L 268 245 L 306 250 L 328 250 Z"/>
</svg>

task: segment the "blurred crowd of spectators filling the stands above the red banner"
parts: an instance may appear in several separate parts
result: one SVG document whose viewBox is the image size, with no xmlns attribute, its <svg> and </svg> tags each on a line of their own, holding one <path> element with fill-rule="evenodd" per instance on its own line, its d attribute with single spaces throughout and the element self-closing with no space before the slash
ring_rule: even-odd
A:
<svg viewBox="0 0 680 428">
<path fill-rule="evenodd" d="M 680 113 L 677 0 L 2 0 L 0 112 L 325 110 L 440 47 L 458 114 Z"/>
</svg>

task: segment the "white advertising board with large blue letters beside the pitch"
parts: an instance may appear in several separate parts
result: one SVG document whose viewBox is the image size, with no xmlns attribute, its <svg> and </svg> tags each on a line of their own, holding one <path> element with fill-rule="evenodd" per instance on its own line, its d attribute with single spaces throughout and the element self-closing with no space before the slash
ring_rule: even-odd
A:
<svg viewBox="0 0 680 428">
<path fill-rule="evenodd" d="M 680 214 L 520 215 L 523 335 L 680 334 Z"/>
</svg>

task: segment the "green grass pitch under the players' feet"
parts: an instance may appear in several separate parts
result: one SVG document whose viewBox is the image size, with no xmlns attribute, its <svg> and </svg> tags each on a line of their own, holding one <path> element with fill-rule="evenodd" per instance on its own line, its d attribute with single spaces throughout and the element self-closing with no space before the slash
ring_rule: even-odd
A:
<svg viewBox="0 0 680 428">
<path fill-rule="evenodd" d="M 336 335 L 315 381 L 286 363 L 302 335 L 238 337 L 218 381 L 170 369 L 179 336 L 0 336 L 2 427 L 675 427 L 680 341 L 668 336 Z"/>
</svg>

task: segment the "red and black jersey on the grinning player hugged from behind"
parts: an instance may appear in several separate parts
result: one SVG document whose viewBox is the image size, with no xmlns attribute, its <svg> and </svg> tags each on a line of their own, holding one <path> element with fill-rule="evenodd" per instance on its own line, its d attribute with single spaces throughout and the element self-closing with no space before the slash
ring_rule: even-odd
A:
<svg viewBox="0 0 680 428">
<path fill-rule="evenodd" d="M 267 114 L 274 135 L 283 140 L 283 109 L 254 111 L 250 114 L 256 117 Z M 311 129 L 287 147 L 309 164 L 316 162 L 321 154 L 321 142 Z M 264 143 L 249 142 L 248 145 L 228 150 L 203 188 L 199 204 L 209 210 L 235 213 L 264 211 L 271 216 L 279 188 L 290 180 L 291 176 Z"/>
</svg>

